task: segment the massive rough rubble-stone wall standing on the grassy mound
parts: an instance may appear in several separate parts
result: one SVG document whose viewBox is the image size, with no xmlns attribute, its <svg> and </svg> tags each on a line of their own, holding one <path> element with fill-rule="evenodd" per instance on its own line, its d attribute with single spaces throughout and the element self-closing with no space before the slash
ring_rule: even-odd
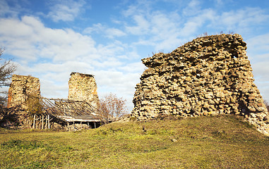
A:
<svg viewBox="0 0 269 169">
<path fill-rule="evenodd" d="M 148 69 L 136 85 L 132 117 L 237 114 L 268 134 L 268 111 L 240 35 L 198 37 L 142 61 Z"/>
</svg>

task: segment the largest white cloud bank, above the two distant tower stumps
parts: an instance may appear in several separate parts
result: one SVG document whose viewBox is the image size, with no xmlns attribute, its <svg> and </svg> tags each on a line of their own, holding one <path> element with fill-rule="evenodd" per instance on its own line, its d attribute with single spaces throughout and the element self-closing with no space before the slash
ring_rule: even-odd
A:
<svg viewBox="0 0 269 169">
<path fill-rule="evenodd" d="M 20 29 L 18 29 L 20 27 Z M 28 61 L 52 58 L 54 62 L 99 57 L 91 37 L 71 29 L 44 27 L 37 18 L 0 19 L 0 43 L 6 52 Z"/>
</svg>

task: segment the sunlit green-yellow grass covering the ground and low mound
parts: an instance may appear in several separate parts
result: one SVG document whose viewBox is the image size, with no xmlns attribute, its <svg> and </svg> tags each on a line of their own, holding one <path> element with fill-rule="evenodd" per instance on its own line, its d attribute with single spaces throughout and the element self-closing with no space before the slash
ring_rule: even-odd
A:
<svg viewBox="0 0 269 169">
<path fill-rule="evenodd" d="M 268 137 L 234 116 L 130 121 L 80 132 L 1 129 L 0 151 L 0 168 L 269 166 Z"/>
</svg>

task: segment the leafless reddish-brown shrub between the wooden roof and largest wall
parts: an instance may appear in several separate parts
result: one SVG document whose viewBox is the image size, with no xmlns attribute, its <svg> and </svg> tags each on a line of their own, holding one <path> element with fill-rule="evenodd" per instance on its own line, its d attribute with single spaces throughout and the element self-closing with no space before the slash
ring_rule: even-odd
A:
<svg viewBox="0 0 269 169">
<path fill-rule="evenodd" d="M 108 94 L 100 99 L 99 112 L 105 123 L 109 120 L 119 118 L 127 113 L 126 99 L 118 98 L 116 94 Z"/>
</svg>

